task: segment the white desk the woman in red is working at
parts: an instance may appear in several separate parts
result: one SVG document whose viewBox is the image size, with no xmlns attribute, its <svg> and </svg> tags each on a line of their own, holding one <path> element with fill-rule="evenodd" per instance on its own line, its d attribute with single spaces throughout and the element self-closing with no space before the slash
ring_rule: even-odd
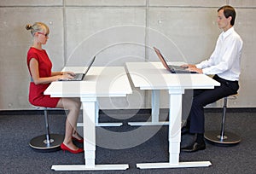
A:
<svg viewBox="0 0 256 174">
<path fill-rule="evenodd" d="M 80 67 L 81 68 L 81 67 Z M 73 67 L 66 70 L 74 70 Z M 84 165 L 52 165 L 55 171 L 126 170 L 129 165 L 96 165 L 96 98 L 125 97 L 131 85 L 124 67 L 91 67 L 85 81 L 54 82 L 44 91 L 51 97 L 80 97 L 84 121 Z"/>
</svg>

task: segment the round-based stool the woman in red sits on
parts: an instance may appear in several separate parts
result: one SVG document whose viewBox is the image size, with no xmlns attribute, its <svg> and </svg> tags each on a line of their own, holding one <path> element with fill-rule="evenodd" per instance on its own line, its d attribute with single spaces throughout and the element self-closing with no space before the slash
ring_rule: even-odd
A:
<svg viewBox="0 0 256 174">
<path fill-rule="evenodd" d="M 29 142 L 30 147 L 38 152 L 54 152 L 60 150 L 64 136 L 59 134 L 49 134 L 49 120 L 47 113 L 48 107 L 36 108 L 44 110 L 46 134 L 32 138 L 32 140 Z"/>
</svg>

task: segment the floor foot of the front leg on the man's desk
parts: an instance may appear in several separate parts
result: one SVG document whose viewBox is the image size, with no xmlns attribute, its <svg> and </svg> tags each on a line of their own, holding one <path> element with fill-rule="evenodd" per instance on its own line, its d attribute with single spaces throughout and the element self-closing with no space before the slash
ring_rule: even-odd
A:
<svg viewBox="0 0 256 174">
<path fill-rule="evenodd" d="M 185 168 L 185 167 L 207 167 L 210 165 L 212 165 L 210 161 L 179 162 L 177 165 L 173 165 L 170 163 L 143 163 L 143 164 L 137 164 L 137 168 L 140 168 L 140 169 Z"/>
</svg>

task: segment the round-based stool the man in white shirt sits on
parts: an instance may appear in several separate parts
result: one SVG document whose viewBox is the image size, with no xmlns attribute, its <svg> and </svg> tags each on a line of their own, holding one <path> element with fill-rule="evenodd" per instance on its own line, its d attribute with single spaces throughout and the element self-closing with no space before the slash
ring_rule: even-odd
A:
<svg viewBox="0 0 256 174">
<path fill-rule="evenodd" d="M 224 131 L 228 99 L 236 99 L 236 96 L 237 95 L 224 97 L 221 131 L 206 131 L 205 138 L 208 142 L 212 142 L 213 144 L 220 146 L 232 146 L 241 142 L 240 136 L 237 136 L 231 132 Z"/>
</svg>

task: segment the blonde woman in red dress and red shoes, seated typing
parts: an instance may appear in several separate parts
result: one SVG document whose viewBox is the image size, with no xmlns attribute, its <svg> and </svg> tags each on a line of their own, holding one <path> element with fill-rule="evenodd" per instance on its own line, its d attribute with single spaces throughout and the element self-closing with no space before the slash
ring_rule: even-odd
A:
<svg viewBox="0 0 256 174">
<path fill-rule="evenodd" d="M 66 120 L 66 131 L 64 141 L 61 143 L 61 149 L 67 150 L 73 154 L 84 151 L 73 144 L 73 140 L 84 142 L 76 131 L 77 119 L 81 102 L 79 98 L 51 98 L 44 95 L 44 90 L 51 82 L 58 79 L 73 78 L 73 72 L 51 72 L 52 64 L 49 57 L 42 48 L 49 38 L 49 27 L 42 22 L 36 22 L 33 25 L 26 25 L 26 30 L 30 30 L 33 37 L 32 47 L 27 52 L 27 67 L 31 75 L 29 86 L 29 102 L 39 107 L 60 107 L 69 112 Z"/>
</svg>

